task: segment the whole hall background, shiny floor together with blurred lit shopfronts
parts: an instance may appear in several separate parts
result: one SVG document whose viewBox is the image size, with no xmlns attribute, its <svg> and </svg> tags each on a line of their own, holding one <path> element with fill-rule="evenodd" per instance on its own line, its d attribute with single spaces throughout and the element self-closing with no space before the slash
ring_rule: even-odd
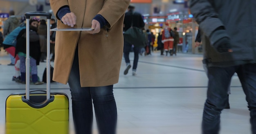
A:
<svg viewBox="0 0 256 134">
<path fill-rule="evenodd" d="M 36 4 L 29 4 L 29 0 L 0 0 L 0 15 L 10 10 L 14 10 L 20 18 L 26 12 L 39 9 L 51 12 L 47 0 L 31 1 L 36 1 Z M 118 134 L 199 134 L 207 77 L 202 66 L 202 48 L 195 47 L 194 43 L 198 24 L 193 21 L 187 6 L 175 4 L 175 0 L 152 0 L 150 3 L 132 1 L 135 11 L 144 16 L 145 28 L 156 36 L 165 24 L 178 28 L 182 52 L 177 53 L 177 56 L 160 56 L 159 51 L 150 56 L 140 56 L 137 76 L 132 76 L 131 71 L 124 76 L 126 65 L 122 61 L 119 83 L 114 85 L 119 119 Z M 2 26 L 7 18 L 0 17 Z M 133 53 L 130 54 L 133 61 Z M 1 50 L 0 134 L 4 134 L 5 99 L 11 93 L 25 92 L 25 85 L 11 81 L 13 69 L 7 66 L 9 59 Z M 51 64 L 54 65 L 54 62 Z M 43 75 L 45 66 L 46 63 L 40 63 L 38 76 Z M 45 89 L 45 86 L 46 84 L 32 85 L 31 88 Z M 52 83 L 51 88 L 54 92 L 67 93 L 71 99 L 68 85 Z M 229 103 L 231 109 L 222 111 L 220 134 L 250 134 L 249 110 L 236 75 L 231 81 Z M 95 122 L 94 118 L 94 127 Z M 97 134 L 96 128 L 94 132 Z M 71 109 L 70 134 L 74 134 Z"/>
</svg>

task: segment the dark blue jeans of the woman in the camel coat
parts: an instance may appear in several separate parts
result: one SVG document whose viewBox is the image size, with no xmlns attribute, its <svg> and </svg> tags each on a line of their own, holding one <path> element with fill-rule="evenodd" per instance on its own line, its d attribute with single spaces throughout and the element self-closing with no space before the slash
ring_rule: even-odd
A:
<svg viewBox="0 0 256 134">
<path fill-rule="evenodd" d="M 77 49 L 68 83 L 72 96 L 72 112 L 76 134 L 92 134 L 92 100 L 99 134 L 115 134 L 117 106 L 113 95 L 113 85 L 81 87 Z"/>
</svg>

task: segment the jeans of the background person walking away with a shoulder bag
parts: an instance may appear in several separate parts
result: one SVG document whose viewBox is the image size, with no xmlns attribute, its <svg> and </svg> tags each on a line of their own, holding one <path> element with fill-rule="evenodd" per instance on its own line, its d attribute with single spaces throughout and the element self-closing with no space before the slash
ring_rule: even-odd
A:
<svg viewBox="0 0 256 134">
<path fill-rule="evenodd" d="M 131 48 L 132 48 L 132 44 L 124 41 L 124 59 L 125 59 L 126 63 L 130 63 L 129 54 L 130 54 Z M 132 69 L 135 69 L 135 70 L 137 69 L 137 65 L 138 65 L 138 61 L 139 61 L 139 51 L 140 51 L 140 47 L 133 48 L 134 60 L 133 60 Z"/>
</svg>

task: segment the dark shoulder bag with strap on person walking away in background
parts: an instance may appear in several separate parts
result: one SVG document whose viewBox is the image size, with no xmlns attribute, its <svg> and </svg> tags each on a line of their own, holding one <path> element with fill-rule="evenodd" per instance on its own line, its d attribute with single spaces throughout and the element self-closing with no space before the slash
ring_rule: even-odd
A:
<svg viewBox="0 0 256 134">
<path fill-rule="evenodd" d="M 144 47 L 146 44 L 146 35 L 141 28 L 133 26 L 133 13 L 131 27 L 124 32 L 124 41 L 135 47 Z"/>
</svg>

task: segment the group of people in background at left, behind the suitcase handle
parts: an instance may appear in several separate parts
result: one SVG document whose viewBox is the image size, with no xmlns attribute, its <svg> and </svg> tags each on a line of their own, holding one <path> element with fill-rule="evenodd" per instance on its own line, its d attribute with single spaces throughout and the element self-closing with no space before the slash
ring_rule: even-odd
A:
<svg viewBox="0 0 256 134">
<path fill-rule="evenodd" d="M 21 22 L 14 14 L 9 12 L 9 18 L 4 22 L 1 47 L 10 55 L 11 63 L 15 68 L 13 81 L 25 84 L 26 75 L 26 24 Z M 56 27 L 55 19 L 51 19 L 51 28 Z M 2 33 L 2 32 L 1 32 Z M 30 35 L 30 74 L 31 82 L 43 84 L 37 75 L 37 65 L 45 62 L 47 51 L 47 26 L 45 19 L 33 17 L 29 20 Z M 54 47 L 55 33 L 51 33 L 51 42 Z M 54 51 L 54 50 L 52 50 Z M 52 60 L 54 61 L 54 52 Z"/>
</svg>

